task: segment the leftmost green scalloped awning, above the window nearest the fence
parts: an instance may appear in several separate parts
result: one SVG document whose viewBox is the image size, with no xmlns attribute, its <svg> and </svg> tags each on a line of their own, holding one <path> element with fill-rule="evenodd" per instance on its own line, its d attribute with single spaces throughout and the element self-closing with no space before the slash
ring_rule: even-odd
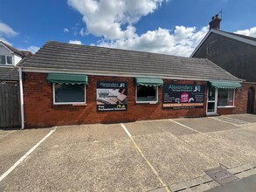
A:
<svg viewBox="0 0 256 192">
<path fill-rule="evenodd" d="M 81 74 L 66 74 L 66 73 L 48 73 L 47 83 L 57 84 L 87 84 L 87 75 Z"/>
</svg>

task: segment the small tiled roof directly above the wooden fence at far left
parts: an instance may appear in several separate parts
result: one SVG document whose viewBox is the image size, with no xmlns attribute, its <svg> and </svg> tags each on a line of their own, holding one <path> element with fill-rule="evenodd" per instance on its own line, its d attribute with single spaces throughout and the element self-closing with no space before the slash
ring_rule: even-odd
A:
<svg viewBox="0 0 256 192">
<path fill-rule="evenodd" d="M 0 81 L 18 80 L 17 68 L 14 66 L 0 66 Z"/>
</svg>

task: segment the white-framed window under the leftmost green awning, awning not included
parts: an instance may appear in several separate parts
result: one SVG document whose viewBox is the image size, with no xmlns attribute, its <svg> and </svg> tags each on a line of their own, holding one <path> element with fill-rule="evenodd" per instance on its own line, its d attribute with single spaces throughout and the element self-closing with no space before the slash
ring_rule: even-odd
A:
<svg viewBox="0 0 256 192">
<path fill-rule="evenodd" d="M 86 86 L 72 84 L 53 84 L 53 104 L 85 104 Z"/>
</svg>

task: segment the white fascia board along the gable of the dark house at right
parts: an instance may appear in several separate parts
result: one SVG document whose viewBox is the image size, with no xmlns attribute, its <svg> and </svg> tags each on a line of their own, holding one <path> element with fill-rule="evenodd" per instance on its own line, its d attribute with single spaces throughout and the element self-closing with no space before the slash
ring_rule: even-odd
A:
<svg viewBox="0 0 256 192">
<path fill-rule="evenodd" d="M 249 44 L 249 45 L 256 46 L 256 41 L 253 41 L 253 40 L 250 40 L 250 39 L 247 39 L 247 38 L 241 38 L 241 37 L 238 37 L 236 35 L 226 33 L 225 31 L 218 31 L 218 30 L 211 29 L 211 31 L 208 31 L 208 33 L 205 35 L 205 37 L 200 42 L 200 44 L 197 45 L 197 48 L 191 53 L 190 58 L 192 58 L 196 54 L 197 50 L 201 47 L 201 45 L 204 44 L 204 41 L 206 40 L 206 38 L 208 38 L 210 36 L 211 32 L 216 33 L 216 34 L 221 35 L 221 36 L 224 36 L 226 38 L 232 38 L 234 40 L 237 40 L 237 41 Z"/>
</svg>

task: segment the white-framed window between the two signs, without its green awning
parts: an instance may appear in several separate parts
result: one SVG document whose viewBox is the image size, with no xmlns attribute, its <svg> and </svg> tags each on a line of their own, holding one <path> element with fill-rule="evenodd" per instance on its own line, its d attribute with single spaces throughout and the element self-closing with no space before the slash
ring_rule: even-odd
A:
<svg viewBox="0 0 256 192">
<path fill-rule="evenodd" d="M 158 101 L 158 86 L 139 86 L 136 90 L 137 103 L 156 103 Z"/>
</svg>

